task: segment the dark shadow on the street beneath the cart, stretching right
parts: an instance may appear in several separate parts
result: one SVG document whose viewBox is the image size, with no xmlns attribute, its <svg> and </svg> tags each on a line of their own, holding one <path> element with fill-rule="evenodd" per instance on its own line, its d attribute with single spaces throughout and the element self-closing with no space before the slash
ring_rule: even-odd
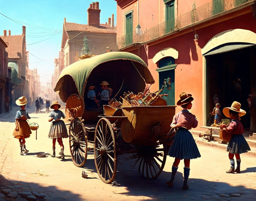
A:
<svg viewBox="0 0 256 201">
<path fill-rule="evenodd" d="M 216 176 L 216 181 L 207 181 L 204 179 L 193 178 L 191 175 L 188 183 L 190 188 L 184 191 L 182 190 L 182 165 L 179 167 L 175 176 L 173 188 L 169 188 L 166 182 L 170 179 L 171 172 L 162 171 L 156 180 L 145 180 L 140 176 L 136 166 L 131 167 L 133 166 L 133 161 L 127 161 L 124 158 L 127 158 L 126 154 L 119 156 L 119 161 L 121 164 L 117 165 L 116 181 L 114 181 L 112 184 L 104 184 L 102 182 L 102 185 L 112 185 L 114 188 L 114 194 L 122 194 L 127 196 L 147 196 L 151 198 L 143 200 L 244 200 L 246 198 L 253 199 L 251 195 L 256 194 L 256 190 L 252 188 L 250 189 L 249 187 L 245 188 L 245 186 L 241 185 L 231 186 L 228 181 L 227 183 L 219 182 L 219 176 Z M 94 160 L 87 160 L 84 168 L 87 171 L 96 172 Z M 241 171 L 241 173 L 245 172 L 256 172 L 256 168 L 247 168 L 246 170 Z M 232 174 L 232 176 L 235 176 L 235 174 Z M 127 192 L 123 192 L 123 188 L 117 188 L 120 186 L 125 187 Z M 221 194 L 231 195 L 234 193 L 239 193 L 241 197 L 222 198 L 219 196 Z"/>
</svg>

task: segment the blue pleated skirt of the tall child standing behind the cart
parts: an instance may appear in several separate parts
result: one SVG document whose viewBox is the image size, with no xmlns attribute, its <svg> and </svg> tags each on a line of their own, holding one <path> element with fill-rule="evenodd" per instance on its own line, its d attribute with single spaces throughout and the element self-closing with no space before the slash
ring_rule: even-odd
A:
<svg viewBox="0 0 256 201">
<path fill-rule="evenodd" d="M 192 134 L 185 128 L 178 129 L 168 155 L 179 159 L 201 157 Z"/>
</svg>

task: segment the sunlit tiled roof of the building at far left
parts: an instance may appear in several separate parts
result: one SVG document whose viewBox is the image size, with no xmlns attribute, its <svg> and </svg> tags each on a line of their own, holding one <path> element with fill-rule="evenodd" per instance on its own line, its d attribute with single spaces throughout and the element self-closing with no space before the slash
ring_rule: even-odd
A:
<svg viewBox="0 0 256 201">
<path fill-rule="evenodd" d="M 17 52 L 22 54 L 23 35 L 0 36 L 0 37 L 3 39 L 3 41 L 9 43 L 7 44 L 8 47 L 5 49 L 5 51 L 7 51 L 8 54 L 12 53 L 17 55 Z M 9 57 L 9 58 L 16 58 L 16 57 Z"/>
</svg>

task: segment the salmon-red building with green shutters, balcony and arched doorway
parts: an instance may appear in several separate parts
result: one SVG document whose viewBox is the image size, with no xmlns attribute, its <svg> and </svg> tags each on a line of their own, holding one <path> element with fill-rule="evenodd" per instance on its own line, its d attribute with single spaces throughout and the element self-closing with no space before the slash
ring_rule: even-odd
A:
<svg viewBox="0 0 256 201">
<path fill-rule="evenodd" d="M 191 93 L 199 126 L 211 124 L 214 101 L 223 108 L 237 100 L 249 110 L 247 96 L 256 85 L 255 0 L 115 1 L 117 51 L 145 61 L 155 79 L 151 90 L 169 78 L 169 105 Z M 248 128 L 249 116 L 242 121 Z"/>
</svg>

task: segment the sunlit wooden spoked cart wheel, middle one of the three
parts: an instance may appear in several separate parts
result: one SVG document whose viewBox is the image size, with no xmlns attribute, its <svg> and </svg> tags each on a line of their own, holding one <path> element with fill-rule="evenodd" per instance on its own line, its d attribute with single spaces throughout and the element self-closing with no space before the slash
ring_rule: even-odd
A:
<svg viewBox="0 0 256 201">
<path fill-rule="evenodd" d="M 111 123 L 101 118 L 97 123 L 94 137 L 94 162 L 99 177 L 110 184 L 117 174 L 115 135 Z"/>
</svg>

